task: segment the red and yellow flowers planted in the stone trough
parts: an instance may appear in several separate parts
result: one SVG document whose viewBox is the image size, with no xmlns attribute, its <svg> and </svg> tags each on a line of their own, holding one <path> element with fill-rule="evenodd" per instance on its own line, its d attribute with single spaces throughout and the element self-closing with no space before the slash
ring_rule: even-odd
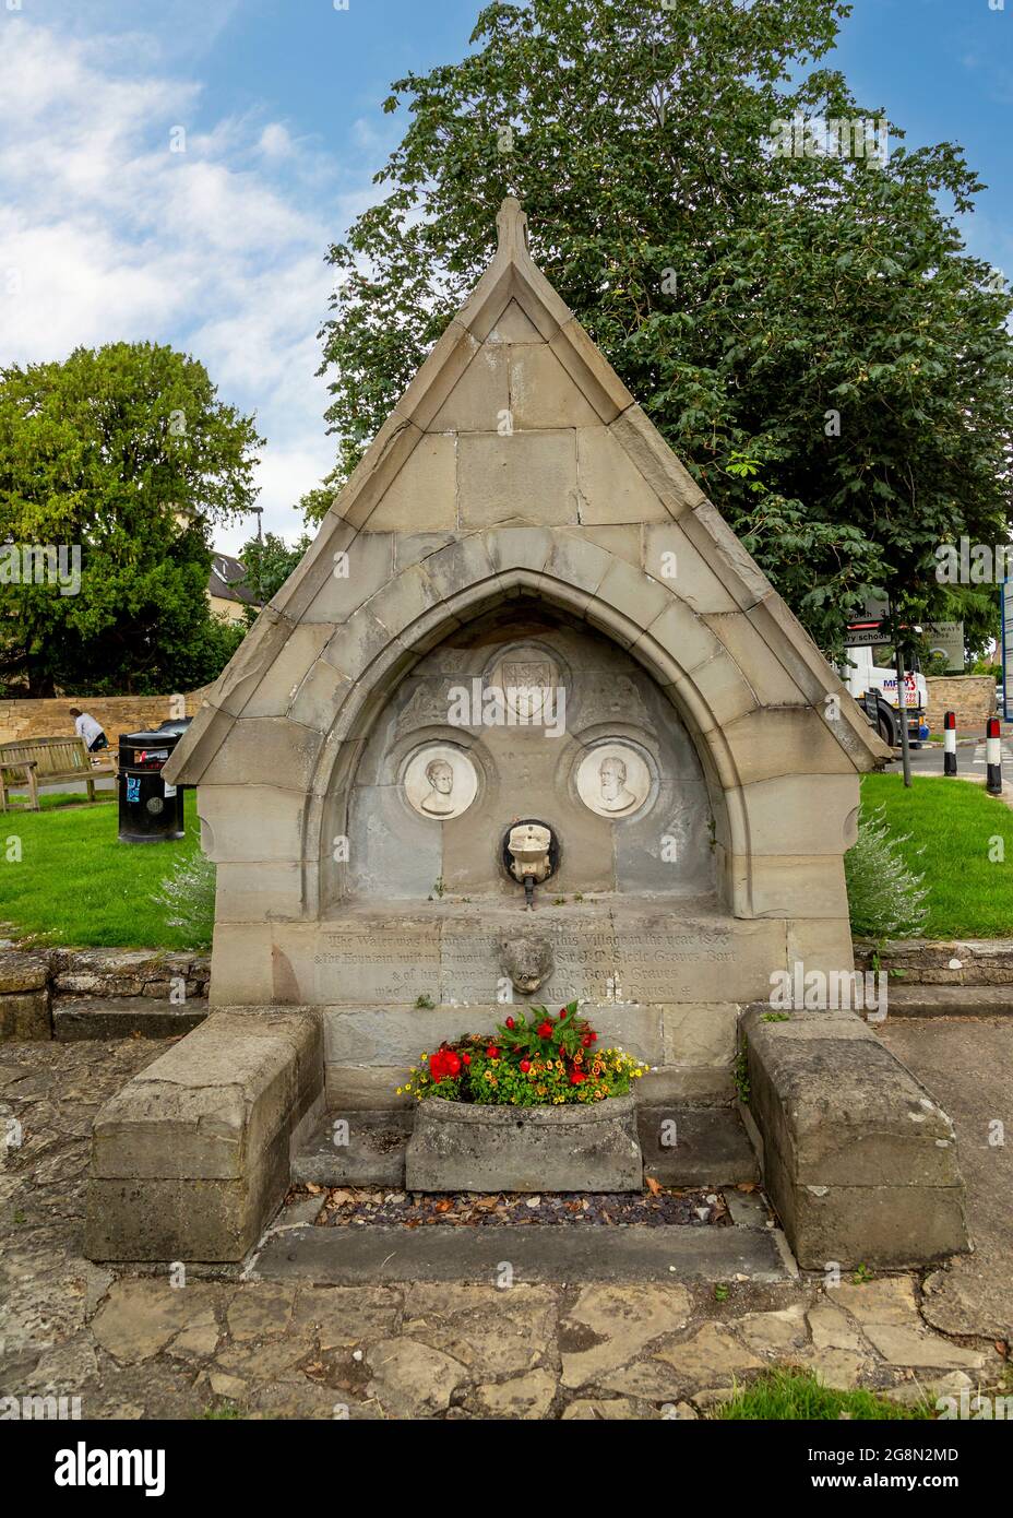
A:
<svg viewBox="0 0 1013 1518">
<path fill-rule="evenodd" d="M 555 1019 L 544 1006 L 531 1017 L 508 1017 L 494 1034 L 464 1034 L 422 1055 L 397 1094 L 441 1096 L 447 1102 L 482 1102 L 513 1107 L 561 1107 L 566 1102 L 601 1102 L 626 1096 L 646 1073 L 623 1049 L 597 1049 L 597 1034 L 576 1002 Z"/>
</svg>

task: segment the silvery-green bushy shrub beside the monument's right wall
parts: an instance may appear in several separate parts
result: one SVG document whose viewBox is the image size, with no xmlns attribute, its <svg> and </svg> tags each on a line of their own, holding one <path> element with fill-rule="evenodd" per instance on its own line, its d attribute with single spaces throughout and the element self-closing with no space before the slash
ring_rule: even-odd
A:
<svg viewBox="0 0 1013 1518">
<path fill-rule="evenodd" d="M 928 888 L 905 864 L 901 842 L 878 806 L 858 817 L 858 838 L 845 855 L 851 931 L 863 938 L 916 938 L 928 917 Z"/>
</svg>

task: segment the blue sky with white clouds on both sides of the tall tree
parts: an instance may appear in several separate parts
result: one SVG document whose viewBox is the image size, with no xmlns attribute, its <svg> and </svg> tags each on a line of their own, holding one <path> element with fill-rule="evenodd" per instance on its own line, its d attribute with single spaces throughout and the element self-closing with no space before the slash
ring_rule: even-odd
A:
<svg viewBox="0 0 1013 1518">
<path fill-rule="evenodd" d="M 854 0 L 836 62 L 908 144 L 964 146 L 989 185 L 964 235 L 1010 275 L 1013 0 L 998 5 Z M 479 9 L 0 0 L 0 363 L 141 337 L 196 354 L 256 410 L 264 525 L 294 536 L 334 457 L 323 254 L 400 135 L 390 82 L 459 58 Z"/>
</svg>

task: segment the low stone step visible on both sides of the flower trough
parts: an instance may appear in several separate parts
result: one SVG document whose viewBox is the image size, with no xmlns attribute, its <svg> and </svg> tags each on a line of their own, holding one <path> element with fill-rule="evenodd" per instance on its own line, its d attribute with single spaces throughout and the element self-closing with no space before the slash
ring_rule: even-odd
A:
<svg viewBox="0 0 1013 1518">
<path fill-rule="evenodd" d="M 405 1108 L 328 1113 L 293 1160 L 293 1181 L 317 1186 L 405 1184 L 414 1113 Z M 347 1123 L 335 1134 L 335 1122 Z M 732 1107 L 641 1107 L 644 1170 L 661 1186 L 758 1181 L 757 1158 Z"/>
</svg>

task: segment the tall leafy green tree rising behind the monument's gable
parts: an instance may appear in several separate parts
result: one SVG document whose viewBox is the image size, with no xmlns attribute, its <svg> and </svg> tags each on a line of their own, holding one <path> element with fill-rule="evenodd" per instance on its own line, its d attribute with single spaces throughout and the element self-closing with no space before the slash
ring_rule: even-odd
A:
<svg viewBox="0 0 1013 1518">
<path fill-rule="evenodd" d="M 306 515 L 466 298 L 511 193 L 537 261 L 826 651 L 872 589 L 980 641 L 995 597 L 957 610 L 933 551 L 1007 537 L 1013 302 L 958 235 L 983 188 L 960 149 L 908 152 L 890 124 L 883 155 L 886 112 L 820 67 L 848 12 L 493 3 L 464 59 L 397 80 L 385 109 L 411 120 L 385 199 L 329 252 L 340 454 Z M 861 155 L 820 120 L 854 123 Z"/>
</svg>

